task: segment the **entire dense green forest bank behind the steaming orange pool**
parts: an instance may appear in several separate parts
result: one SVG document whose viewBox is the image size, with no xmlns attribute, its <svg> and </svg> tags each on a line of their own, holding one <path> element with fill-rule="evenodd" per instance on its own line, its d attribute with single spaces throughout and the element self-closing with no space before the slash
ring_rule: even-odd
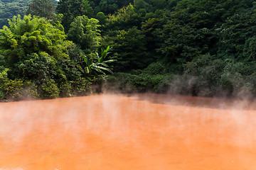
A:
<svg viewBox="0 0 256 170">
<path fill-rule="evenodd" d="M 256 96 L 255 1 L 2 0 L 0 8 L 2 100 L 102 89 Z"/>
</svg>

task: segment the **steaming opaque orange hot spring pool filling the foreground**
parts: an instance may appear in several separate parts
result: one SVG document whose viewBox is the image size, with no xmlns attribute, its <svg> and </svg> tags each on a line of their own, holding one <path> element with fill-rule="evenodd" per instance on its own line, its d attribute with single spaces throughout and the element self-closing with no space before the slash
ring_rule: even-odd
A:
<svg viewBox="0 0 256 170">
<path fill-rule="evenodd" d="M 253 170 L 256 103 L 105 94 L 0 103 L 0 170 Z"/>
</svg>

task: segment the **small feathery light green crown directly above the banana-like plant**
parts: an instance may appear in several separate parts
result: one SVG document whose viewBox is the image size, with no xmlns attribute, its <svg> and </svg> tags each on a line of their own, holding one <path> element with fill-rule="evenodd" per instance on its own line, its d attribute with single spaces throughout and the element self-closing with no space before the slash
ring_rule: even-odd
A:
<svg viewBox="0 0 256 170">
<path fill-rule="evenodd" d="M 95 18 L 88 18 L 87 16 L 78 16 L 75 21 L 71 23 L 71 28 L 68 31 L 68 38 L 80 45 L 86 54 L 95 52 L 100 46 L 100 27 L 99 21 Z"/>
</svg>

